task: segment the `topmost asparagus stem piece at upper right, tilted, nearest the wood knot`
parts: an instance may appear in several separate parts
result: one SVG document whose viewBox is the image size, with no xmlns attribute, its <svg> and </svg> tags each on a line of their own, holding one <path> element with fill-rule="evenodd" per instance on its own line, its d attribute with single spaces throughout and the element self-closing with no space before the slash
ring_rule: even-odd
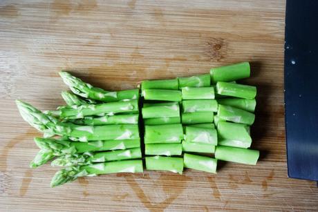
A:
<svg viewBox="0 0 318 212">
<path fill-rule="evenodd" d="M 210 75 L 212 83 L 247 78 L 250 77 L 250 64 L 248 62 L 243 62 L 232 64 L 230 66 L 211 68 Z"/>
</svg>

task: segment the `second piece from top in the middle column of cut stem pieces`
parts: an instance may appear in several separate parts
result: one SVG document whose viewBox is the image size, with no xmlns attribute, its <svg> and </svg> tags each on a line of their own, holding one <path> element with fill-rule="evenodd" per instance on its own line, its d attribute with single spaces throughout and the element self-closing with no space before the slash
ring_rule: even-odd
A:
<svg viewBox="0 0 318 212">
<path fill-rule="evenodd" d="M 182 88 L 183 99 L 214 99 L 213 87 Z"/>
</svg>

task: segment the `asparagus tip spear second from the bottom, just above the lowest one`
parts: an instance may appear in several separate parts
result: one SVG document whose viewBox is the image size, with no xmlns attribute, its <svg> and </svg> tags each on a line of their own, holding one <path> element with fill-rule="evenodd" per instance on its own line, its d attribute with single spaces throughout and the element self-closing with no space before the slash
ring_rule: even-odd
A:
<svg viewBox="0 0 318 212">
<path fill-rule="evenodd" d="M 84 166 L 92 163 L 109 162 L 115 160 L 131 160 L 141 158 L 141 148 L 106 151 L 99 153 L 83 153 L 75 155 L 62 155 L 57 157 L 52 166 Z"/>
</svg>

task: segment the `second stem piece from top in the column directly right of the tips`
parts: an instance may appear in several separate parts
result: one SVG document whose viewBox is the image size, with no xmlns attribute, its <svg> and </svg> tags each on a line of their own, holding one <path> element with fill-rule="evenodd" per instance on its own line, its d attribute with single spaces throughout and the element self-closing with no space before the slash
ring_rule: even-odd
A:
<svg viewBox="0 0 318 212">
<path fill-rule="evenodd" d="M 146 100 L 180 102 L 182 93 L 180 90 L 144 89 L 142 96 Z"/>
</svg>

